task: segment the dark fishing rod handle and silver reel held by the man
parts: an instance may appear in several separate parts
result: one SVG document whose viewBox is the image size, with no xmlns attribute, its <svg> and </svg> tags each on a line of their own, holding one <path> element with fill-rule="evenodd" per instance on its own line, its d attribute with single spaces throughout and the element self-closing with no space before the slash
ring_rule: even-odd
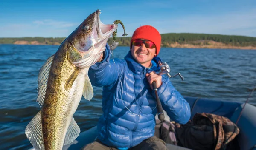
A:
<svg viewBox="0 0 256 150">
<path fill-rule="evenodd" d="M 158 73 L 158 75 L 163 75 L 163 74 L 167 74 L 167 76 L 169 78 L 173 78 L 177 75 L 180 76 L 181 80 L 184 80 L 184 77 L 180 74 L 177 73 L 174 76 L 170 75 L 169 73 L 171 72 L 171 69 L 169 67 L 169 65 L 166 62 L 159 62 L 159 66 L 161 68 L 161 71 Z M 163 107 L 162 104 L 160 102 L 160 99 L 158 97 L 158 93 L 157 93 L 157 84 L 155 81 L 152 82 L 152 87 L 154 88 L 154 93 L 156 95 L 156 101 L 157 101 L 157 115 L 158 115 L 158 119 L 163 122 L 164 121 L 164 113 L 163 113 Z"/>
</svg>

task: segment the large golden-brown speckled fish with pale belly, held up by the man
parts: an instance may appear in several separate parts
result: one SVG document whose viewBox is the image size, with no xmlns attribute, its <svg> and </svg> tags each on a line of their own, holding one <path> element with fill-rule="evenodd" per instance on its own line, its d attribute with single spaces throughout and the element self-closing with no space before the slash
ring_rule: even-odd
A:
<svg viewBox="0 0 256 150">
<path fill-rule="evenodd" d="M 26 127 L 26 137 L 36 150 L 61 150 L 79 135 L 72 117 L 82 95 L 90 100 L 93 87 L 87 75 L 116 24 L 104 25 L 100 11 L 90 14 L 47 59 L 38 74 L 38 98 L 42 109 Z"/>
</svg>

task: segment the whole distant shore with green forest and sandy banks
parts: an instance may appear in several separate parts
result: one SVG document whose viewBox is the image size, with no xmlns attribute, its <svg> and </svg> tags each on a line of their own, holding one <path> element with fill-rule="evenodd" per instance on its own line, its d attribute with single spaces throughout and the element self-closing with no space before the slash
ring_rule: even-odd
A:
<svg viewBox="0 0 256 150">
<path fill-rule="evenodd" d="M 167 48 L 256 50 L 256 37 L 194 33 L 167 33 L 161 34 L 161 37 L 161 47 Z M 0 38 L 0 44 L 60 45 L 65 39 L 66 37 L 6 37 Z M 111 44 L 112 41 L 113 38 L 110 37 L 108 43 Z M 115 42 L 119 42 L 119 46 L 129 46 L 131 37 L 117 37 Z"/>
</svg>

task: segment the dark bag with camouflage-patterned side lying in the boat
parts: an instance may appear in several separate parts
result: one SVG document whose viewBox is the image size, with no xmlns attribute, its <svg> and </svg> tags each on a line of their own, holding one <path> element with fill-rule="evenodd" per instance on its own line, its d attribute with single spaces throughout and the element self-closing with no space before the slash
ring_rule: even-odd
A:
<svg viewBox="0 0 256 150">
<path fill-rule="evenodd" d="M 232 147 L 229 144 L 239 134 L 239 128 L 226 117 L 197 113 L 186 125 L 175 123 L 175 133 L 178 145 L 182 147 L 194 150 L 227 150 Z"/>
</svg>

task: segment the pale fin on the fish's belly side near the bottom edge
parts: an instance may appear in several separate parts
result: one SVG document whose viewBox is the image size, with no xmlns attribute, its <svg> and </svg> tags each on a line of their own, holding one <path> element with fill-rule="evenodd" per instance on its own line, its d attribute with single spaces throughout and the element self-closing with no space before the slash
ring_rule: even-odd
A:
<svg viewBox="0 0 256 150">
<path fill-rule="evenodd" d="M 77 125 L 75 119 L 72 117 L 70 125 L 67 128 L 67 133 L 66 133 L 63 145 L 67 145 L 73 142 L 79 136 L 79 133 L 80 133 L 80 128 Z"/>
</svg>

